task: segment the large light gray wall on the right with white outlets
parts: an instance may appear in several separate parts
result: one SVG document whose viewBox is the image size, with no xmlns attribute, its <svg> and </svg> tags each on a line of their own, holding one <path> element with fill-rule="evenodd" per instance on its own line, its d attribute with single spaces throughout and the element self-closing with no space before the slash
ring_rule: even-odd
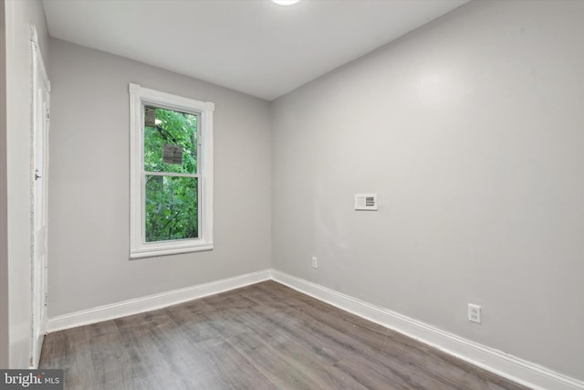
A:
<svg viewBox="0 0 584 390">
<path fill-rule="evenodd" d="M 583 91 L 584 2 L 492 1 L 276 100 L 274 268 L 584 379 Z"/>
</svg>

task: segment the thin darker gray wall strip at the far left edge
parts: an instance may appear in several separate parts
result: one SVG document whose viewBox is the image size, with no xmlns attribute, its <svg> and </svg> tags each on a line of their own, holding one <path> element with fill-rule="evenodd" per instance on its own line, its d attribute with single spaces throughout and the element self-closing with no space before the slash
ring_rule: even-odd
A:
<svg viewBox="0 0 584 390">
<path fill-rule="evenodd" d="M 8 198 L 6 182 L 6 22 L 0 0 L 0 368 L 8 366 Z"/>
</svg>

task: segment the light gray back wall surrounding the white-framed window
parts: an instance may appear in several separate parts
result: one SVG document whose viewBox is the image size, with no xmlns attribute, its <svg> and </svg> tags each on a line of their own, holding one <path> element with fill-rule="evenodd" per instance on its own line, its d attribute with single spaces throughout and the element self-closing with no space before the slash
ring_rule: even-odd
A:
<svg viewBox="0 0 584 390">
<path fill-rule="evenodd" d="M 59 40 L 50 60 L 49 317 L 270 267 L 265 100 Z M 215 103 L 213 251 L 129 260 L 129 82 Z"/>
</svg>

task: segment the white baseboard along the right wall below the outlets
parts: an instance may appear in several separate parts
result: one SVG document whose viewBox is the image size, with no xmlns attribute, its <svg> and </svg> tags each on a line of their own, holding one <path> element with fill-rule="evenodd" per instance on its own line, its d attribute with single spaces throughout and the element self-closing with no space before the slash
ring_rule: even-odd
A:
<svg viewBox="0 0 584 390">
<path fill-rule="evenodd" d="M 287 275 L 275 269 L 272 269 L 271 274 L 272 279 L 294 290 L 327 302 L 344 311 L 349 311 L 366 320 L 379 323 L 386 328 L 429 344 L 445 353 L 454 355 L 470 364 L 506 377 L 516 383 L 541 390 L 584 389 L 584 382 L 577 379 L 558 374 L 508 353 L 474 343 L 453 333 L 444 332 L 397 312 L 376 307 L 365 301 L 357 300 L 349 295 L 330 290 L 305 279 Z"/>
</svg>

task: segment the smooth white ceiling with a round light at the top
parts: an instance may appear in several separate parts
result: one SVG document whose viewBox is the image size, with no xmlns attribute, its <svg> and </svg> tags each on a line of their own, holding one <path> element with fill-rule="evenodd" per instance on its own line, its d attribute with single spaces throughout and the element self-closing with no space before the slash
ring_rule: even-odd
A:
<svg viewBox="0 0 584 390">
<path fill-rule="evenodd" d="M 43 0 L 51 37 L 266 100 L 466 2 Z"/>
</svg>

